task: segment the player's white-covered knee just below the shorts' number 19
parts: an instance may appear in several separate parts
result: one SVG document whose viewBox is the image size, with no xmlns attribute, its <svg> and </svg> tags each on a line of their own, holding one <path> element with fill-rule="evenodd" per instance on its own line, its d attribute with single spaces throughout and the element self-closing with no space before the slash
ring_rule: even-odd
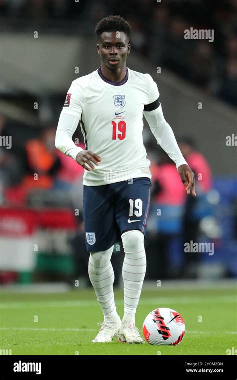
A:
<svg viewBox="0 0 237 380">
<path fill-rule="evenodd" d="M 121 238 L 124 252 L 136 253 L 144 250 L 144 235 L 141 231 L 134 229 L 124 232 Z"/>
</svg>

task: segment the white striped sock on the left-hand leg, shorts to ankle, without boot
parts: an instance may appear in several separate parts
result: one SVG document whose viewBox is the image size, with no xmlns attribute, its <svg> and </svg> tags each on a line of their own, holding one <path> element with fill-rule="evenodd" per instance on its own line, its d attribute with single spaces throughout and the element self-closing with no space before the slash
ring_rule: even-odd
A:
<svg viewBox="0 0 237 380">
<path fill-rule="evenodd" d="M 104 320 L 117 321 L 113 293 L 114 272 L 111 264 L 113 246 L 105 251 L 90 252 L 89 278 L 95 290 L 97 300 L 102 309 Z"/>
</svg>

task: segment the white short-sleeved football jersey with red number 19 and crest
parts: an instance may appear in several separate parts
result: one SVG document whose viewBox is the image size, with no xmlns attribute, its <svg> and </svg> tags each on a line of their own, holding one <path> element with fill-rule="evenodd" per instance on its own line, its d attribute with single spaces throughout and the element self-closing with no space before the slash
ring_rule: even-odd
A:
<svg viewBox="0 0 237 380">
<path fill-rule="evenodd" d="M 143 110 L 158 97 L 152 77 L 129 68 L 120 82 L 107 80 L 101 68 L 73 80 L 62 113 L 79 117 L 85 150 L 102 159 L 94 170 L 85 170 L 84 185 L 151 179 L 142 136 Z"/>
</svg>

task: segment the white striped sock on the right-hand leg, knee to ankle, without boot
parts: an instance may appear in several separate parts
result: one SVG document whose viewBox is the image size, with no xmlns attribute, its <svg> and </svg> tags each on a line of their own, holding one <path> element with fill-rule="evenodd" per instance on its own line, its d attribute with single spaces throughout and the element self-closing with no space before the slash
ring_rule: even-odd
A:
<svg viewBox="0 0 237 380">
<path fill-rule="evenodd" d="M 144 235 L 139 230 L 130 230 L 124 232 L 121 238 L 125 252 L 122 267 L 124 281 L 124 317 L 122 323 L 135 323 L 136 308 L 146 272 Z"/>
</svg>

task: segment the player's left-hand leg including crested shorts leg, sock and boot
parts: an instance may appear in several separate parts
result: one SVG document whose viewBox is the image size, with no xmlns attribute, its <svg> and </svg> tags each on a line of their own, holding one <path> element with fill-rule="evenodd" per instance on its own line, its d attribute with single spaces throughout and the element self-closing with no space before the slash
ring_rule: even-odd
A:
<svg viewBox="0 0 237 380">
<path fill-rule="evenodd" d="M 113 294 L 114 272 L 110 259 L 116 242 L 116 229 L 107 185 L 84 186 L 83 220 L 86 249 L 90 252 L 89 278 L 104 315 L 100 332 L 93 342 L 110 342 L 117 335 L 121 320 Z"/>
</svg>

